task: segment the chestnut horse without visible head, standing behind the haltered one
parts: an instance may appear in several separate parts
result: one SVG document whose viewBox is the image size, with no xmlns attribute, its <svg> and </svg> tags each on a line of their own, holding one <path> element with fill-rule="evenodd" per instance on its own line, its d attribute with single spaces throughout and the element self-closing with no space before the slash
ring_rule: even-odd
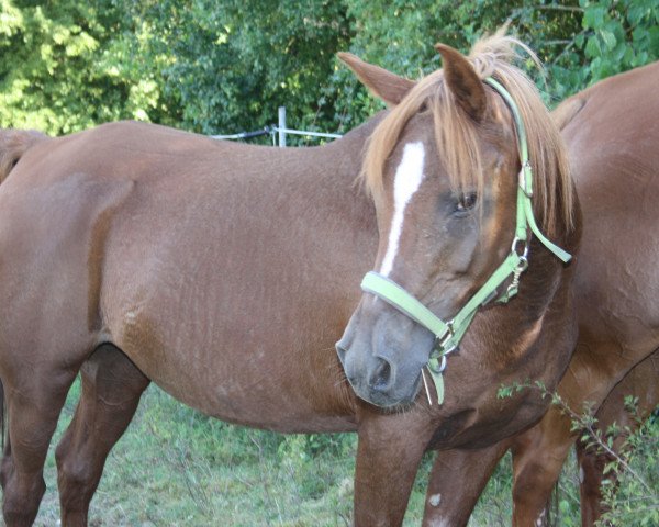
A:
<svg viewBox="0 0 659 527">
<path fill-rule="evenodd" d="M 640 415 L 659 404 L 659 274 L 649 262 L 659 244 L 652 198 L 659 193 L 659 63 L 612 77 L 557 109 L 583 213 L 574 279 L 579 339 L 558 389 L 565 404 L 596 412 L 600 426 L 634 422 L 622 396 L 639 397 Z M 438 455 L 431 473 L 425 525 L 467 525 L 503 453 L 513 453 L 513 525 L 545 525 L 547 503 L 576 440 L 571 419 L 552 406 L 527 431 L 481 450 Z M 622 447 L 617 438 L 614 449 Z M 582 525 L 601 515 L 603 463 L 578 449 Z M 446 474 L 466 474 L 459 482 Z M 442 496 L 438 498 L 438 496 Z"/>
</svg>

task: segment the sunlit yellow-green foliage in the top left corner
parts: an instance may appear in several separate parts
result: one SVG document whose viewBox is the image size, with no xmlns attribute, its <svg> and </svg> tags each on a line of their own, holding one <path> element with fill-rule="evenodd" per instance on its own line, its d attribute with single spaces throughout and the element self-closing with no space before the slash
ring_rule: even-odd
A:
<svg viewBox="0 0 659 527">
<path fill-rule="evenodd" d="M 0 0 L 0 123 L 70 133 L 145 117 L 157 86 L 109 56 L 121 16 L 109 0 Z M 133 72 L 135 74 L 135 72 Z"/>
</svg>

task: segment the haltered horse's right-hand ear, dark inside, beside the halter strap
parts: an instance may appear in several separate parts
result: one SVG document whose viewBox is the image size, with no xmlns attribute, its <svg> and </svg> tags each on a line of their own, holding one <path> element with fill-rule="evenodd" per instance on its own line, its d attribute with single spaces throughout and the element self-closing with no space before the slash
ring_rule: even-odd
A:
<svg viewBox="0 0 659 527">
<path fill-rule="evenodd" d="M 482 121 L 488 106 L 483 81 L 467 57 L 446 44 L 436 44 L 442 55 L 444 79 L 458 104 L 477 122 Z"/>
</svg>

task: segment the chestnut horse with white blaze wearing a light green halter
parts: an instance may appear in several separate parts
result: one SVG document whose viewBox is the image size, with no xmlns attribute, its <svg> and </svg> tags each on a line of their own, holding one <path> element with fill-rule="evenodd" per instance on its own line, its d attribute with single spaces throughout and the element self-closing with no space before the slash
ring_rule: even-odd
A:
<svg viewBox="0 0 659 527">
<path fill-rule="evenodd" d="M 528 377 L 552 389 L 565 372 L 577 338 L 573 266 L 551 244 L 576 254 L 581 220 L 559 132 L 510 64 L 515 44 L 496 34 L 470 57 L 439 46 L 444 69 L 420 82 L 343 55 L 391 108 L 323 147 L 111 123 L 24 152 L 0 186 L 5 524 L 34 522 L 46 449 L 78 372 L 80 401 L 56 449 L 66 526 L 87 525 L 105 457 L 152 381 L 232 423 L 357 431 L 358 526 L 401 524 L 427 449 L 483 447 L 537 421 L 541 396 L 496 391 Z M 370 195 L 354 184 L 365 159 Z M 423 165 L 404 211 L 392 194 L 401 162 Z M 479 300 L 488 305 L 470 314 L 460 351 L 432 371 L 434 399 L 420 379 L 440 360 L 431 357 L 435 337 L 359 291 L 383 260 L 442 316 L 491 283 L 502 260 L 515 262 L 492 292 L 516 296 Z M 400 351 L 407 341 L 415 366 L 384 357 L 371 404 L 351 385 L 370 385 L 358 366 L 375 359 L 353 335 L 376 314 L 380 343 Z"/>
</svg>

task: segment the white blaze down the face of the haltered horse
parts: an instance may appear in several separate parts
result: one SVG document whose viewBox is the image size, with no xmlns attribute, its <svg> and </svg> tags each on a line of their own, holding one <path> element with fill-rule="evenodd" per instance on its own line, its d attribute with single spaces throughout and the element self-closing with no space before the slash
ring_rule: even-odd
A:
<svg viewBox="0 0 659 527">
<path fill-rule="evenodd" d="M 382 260 L 380 274 L 388 276 L 393 269 L 393 261 L 398 254 L 401 233 L 403 232 L 403 220 L 405 208 L 418 190 L 423 181 L 423 161 L 425 150 L 423 143 L 407 143 L 403 150 L 403 158 L 395 170 L 393 180 L 393 220 L 389 229 L 389 242 L 387 253 Z"/>
</svg>

